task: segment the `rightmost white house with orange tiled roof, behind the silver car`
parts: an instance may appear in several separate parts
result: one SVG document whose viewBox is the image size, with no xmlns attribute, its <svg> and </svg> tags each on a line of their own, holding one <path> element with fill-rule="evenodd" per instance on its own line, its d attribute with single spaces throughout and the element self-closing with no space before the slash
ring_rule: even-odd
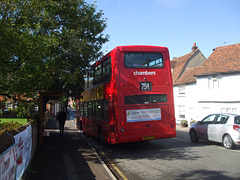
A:
<svg viewBox="0 0 240 180">
<path fill-rule="evenodd" d="M 195 77 L 200 113 L 240 114 L 240 43 L 217 47 Z"/>
</svg>

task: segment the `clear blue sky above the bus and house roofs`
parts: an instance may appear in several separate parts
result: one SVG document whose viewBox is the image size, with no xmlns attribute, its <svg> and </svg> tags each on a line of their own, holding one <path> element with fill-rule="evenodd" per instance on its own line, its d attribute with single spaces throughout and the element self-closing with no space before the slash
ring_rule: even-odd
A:
<svg viewBox="0 0 240 180">
<path fill-rule="evenodd" d="M 120 45 L 156 45 L 168 47 L 172 59 L 191 52 L 196 42 L 208 58 L 218 46 L 240 43 L 239 0 L 98 0 L 96 5 L 108 19 L 104 54 Z"/>
</svg>

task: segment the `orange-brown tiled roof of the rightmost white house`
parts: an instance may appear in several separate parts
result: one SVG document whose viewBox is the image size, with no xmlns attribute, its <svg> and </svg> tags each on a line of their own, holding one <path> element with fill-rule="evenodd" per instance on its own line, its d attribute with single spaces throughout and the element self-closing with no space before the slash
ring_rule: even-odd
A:
<svg viewBox="0 0 240 180">
<path fill-rule="evenodd" d="M 203 63 L 197 75 L 231 73 L 240 71 L 240 43 L 217 47 Z"/>
</svg>

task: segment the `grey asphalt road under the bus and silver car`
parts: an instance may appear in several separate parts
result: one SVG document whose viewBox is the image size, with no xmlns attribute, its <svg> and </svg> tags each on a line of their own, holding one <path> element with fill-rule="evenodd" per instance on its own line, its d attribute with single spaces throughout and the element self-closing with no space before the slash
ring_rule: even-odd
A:
<svg viewBox="0 0 240 180">
<path fill-rule="evenodd" d="M 176 138 L 116 145 L 88 139 L 119 179 L 240 179 L 240 148 L 227 150 L 208 141 L 194 144 L 186 130 L 178 130 Z"/>
</svg>

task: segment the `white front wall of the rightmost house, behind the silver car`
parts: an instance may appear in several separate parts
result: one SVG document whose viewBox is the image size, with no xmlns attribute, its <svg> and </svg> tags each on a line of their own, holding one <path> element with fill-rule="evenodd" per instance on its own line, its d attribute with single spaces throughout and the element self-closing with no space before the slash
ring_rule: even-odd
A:
<svg viewBox="0 0 240 180">
<path fill-rule="evenodd" d="M 240 114 L 239 82 L 240 74 L 198 77 L 199 108 L 208 108 L 210 113 L 231 112 Z"/>
</svg>

